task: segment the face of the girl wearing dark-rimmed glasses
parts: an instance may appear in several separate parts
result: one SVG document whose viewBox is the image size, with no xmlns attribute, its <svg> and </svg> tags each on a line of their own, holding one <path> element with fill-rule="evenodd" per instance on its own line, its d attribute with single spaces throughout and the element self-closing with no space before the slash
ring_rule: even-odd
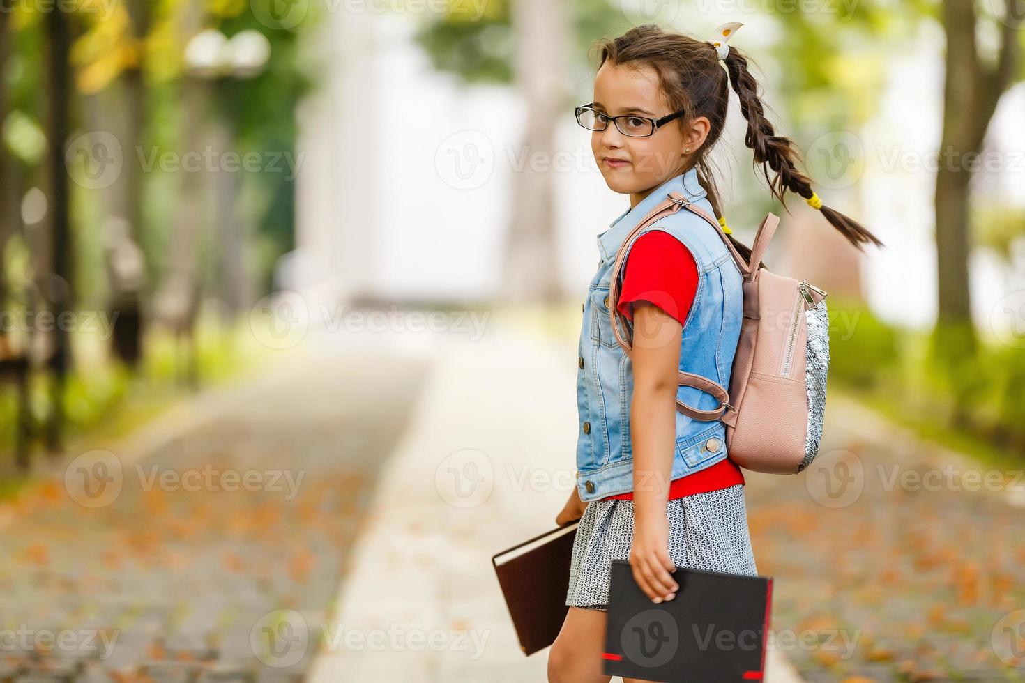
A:
<svg viewBox="0 0 1025 683">
<path fill-rule="evenodd" d="M 606 116 L 637 114 L 661 119 L 673 114 L 659 86 L 658 74 L 649 66 L 613 65 L 606 61 L 594 77 L 592 106 Z M 590 134 L 590 148 L 606 184 L 616 193 L 630 195 L 637 206 L 651 190 L 684 168 L 707 135 L 708 120 L 700 117 L 690 125 L 670 121 L 648 137 L 630 137 L 609 122 L 605 130 Z M 690 148 L 690 153 L 685 150 Z"/>
</svg>

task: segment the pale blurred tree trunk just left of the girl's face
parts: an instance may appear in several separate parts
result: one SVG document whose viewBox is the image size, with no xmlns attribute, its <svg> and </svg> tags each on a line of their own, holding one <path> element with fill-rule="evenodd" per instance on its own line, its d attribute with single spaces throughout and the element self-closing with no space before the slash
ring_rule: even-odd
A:
<svg viewBox="0 0 1025 683">
<path fill-rule="evenodd" d="M 517 35 L 516 78 L 526 101 L 523 146 L 517 171 L 512 218 L 505 244 L 504 298 L 556 301 L 562 295 L 555 229 L 556 128 L 566 113 L 569 86 L 566 46 L 572 35 L 562 2 L 512 3 Z M 498 153 L 499 155 L 501 153 Z M 537 157 L 543 164 L 532 169 Z"/>
</svg>

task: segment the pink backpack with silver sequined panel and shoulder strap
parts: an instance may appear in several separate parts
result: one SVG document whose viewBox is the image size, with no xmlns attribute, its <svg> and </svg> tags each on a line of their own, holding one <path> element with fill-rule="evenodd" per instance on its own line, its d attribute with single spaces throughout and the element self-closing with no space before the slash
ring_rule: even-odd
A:
<svg viewBox="0 0 1025 683">
<path fill-rule="evenodd" d="M 758 267 L 779 225 L 770 213 L 758 226 L 750 262 L 737 252 L 723 227 L 680 193 L 670 193 L 626 236 L 612 269 L 609 309 L 612 330 L 623 351 L 631 343 L 620 334 L 616 304 L 625 247 L 648 225 L 681 208 L 704 218 L 719 232 L 743 275 L 744 318 L 733 359 L 730 389 L 707 377 L 680 372 L 680 384 L 714 396 L 715 410 L 700 411 L 676 399 L 676 410 L 695 420 L 726 424 L 729 457 L 740 467 L 772 474 L 795 474 L 818 453 L 829 368 L 829 319 L 826 292 L 793 278 Z M 631 336 L 630 322 L 622 317 Z"/>
</svg>

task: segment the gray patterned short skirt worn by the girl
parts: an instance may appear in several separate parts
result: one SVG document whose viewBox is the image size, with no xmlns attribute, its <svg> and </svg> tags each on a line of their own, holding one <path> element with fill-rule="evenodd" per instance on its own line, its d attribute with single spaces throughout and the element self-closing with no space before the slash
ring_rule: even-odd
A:
<svg viewBox="0 0 1025 683">
<path fill-rule="evenodd" d="M 757 575 L 747 530 L 744 484 L 666 502 L 669 558 L 678 567 Z M 633 501 L 590 502 L 573 542 L 566 604 L 608 609 L 613 559 L 627 560 L 633 545 Z"/>
</svg>

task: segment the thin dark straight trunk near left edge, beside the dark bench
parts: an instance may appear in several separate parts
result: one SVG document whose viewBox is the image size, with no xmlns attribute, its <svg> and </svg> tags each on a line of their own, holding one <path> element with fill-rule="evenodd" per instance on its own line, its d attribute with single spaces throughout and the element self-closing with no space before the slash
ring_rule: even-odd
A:
<svg viewBox="0 0 1025 683">
<path fill-rule="evenodd" d="M 52 306 L 55 319 L 74 306 L 74 245 L 69 217 L 69 175 L 65 165 L 65 144 L 68 140 L 70 97 L 71 32 L 64 11 L 46 12 L 46 154 L 50 216 L 50 254 L 54 278 L 46 283 L 44 292 Z M 51 453 L 60 447 L 64 416 L 64 388 L 71 369 L 71 337 L 67 325 L 55 325 L 53 332 L 53 371 L 51 383 L 52 415 L 46 433 L 46 445 Z"/>
</svg>

